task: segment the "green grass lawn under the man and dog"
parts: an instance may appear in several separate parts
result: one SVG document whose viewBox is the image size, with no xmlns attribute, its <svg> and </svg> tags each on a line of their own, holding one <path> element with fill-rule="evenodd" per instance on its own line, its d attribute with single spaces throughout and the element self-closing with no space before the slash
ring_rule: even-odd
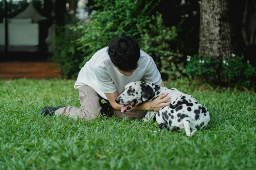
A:
<svg viewBox="0 0 256 170">
<path fill-rule="evenodd" d="M 213 90 L 186 79 L 166 86 L 208 107 L 207 129 L 187 137 L 182 130 L 150 132 L 158 131 L 156 122 L 40 116 L 44 106 L 79 106 L 74 80 L 2 79 L 0 169 L 256 168 L 254 92 Z"/>
</svg>

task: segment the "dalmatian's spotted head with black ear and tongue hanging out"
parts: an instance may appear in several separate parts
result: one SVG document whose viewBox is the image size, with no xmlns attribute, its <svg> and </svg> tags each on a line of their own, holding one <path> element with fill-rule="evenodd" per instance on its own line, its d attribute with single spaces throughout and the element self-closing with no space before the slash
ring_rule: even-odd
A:
<svg viewBox="0 0 256 170">
<path fill-rule="evenodd" d="M 154 84 L 142 81 L 133 81 L 125 86 L 125 91 L 120 94 L 115 102 L 124 105 L 121 112 L 130 111 L 134 106 L 150 101 L 154 97 Z"/>
</svg>

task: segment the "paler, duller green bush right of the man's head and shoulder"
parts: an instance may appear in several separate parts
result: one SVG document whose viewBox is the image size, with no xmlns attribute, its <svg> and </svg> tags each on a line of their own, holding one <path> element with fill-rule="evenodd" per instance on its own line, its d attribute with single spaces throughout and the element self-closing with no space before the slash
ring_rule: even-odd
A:
<svg viewBox="0 0 256 170">
<path fill-rule="evenodd" d="M 176 28 L 163 25 L 162 15 L 157 13 L 152 17 L 149 28 L 141 35 L 141 47 L 155 60 L 162 76 L 168 79 L 179 78 L 183 73 L 184 61 L 179 51 L 171 49 L 170 42 L 177 37 Z"/>
</svg>

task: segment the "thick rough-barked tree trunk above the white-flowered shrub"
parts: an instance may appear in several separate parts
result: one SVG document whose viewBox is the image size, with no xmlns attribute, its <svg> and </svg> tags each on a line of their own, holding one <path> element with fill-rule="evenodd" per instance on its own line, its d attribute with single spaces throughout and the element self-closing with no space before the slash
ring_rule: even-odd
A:
<svg viewBox="0 0 256 170">
<path fill-rule="evenodd" d="M 199 54 L 228 60 L 235 50 L 233 0 L 201 0 Z"/>
</svg>

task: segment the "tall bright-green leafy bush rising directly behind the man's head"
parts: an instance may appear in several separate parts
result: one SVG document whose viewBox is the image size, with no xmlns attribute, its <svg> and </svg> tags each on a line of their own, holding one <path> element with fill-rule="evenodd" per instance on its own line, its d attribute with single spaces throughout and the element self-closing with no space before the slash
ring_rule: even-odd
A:
<svg viewBox="0 0 256 170">
<path fill-rule="evenodd" d="M 138 41 L 142 30 L 151 21 L 150 8 L 153 0 L 146 5 L 142 1 L 94 0 L 95 7 L 100 8 L 91 15 L 91 21 L 87 25 L 78 25 L 82 29 L 83 36 L 77 40 L 78 50 L 84 53 L 84 60 L 80 68 L 90 60 L 93 54 L 108 46 L 108 43 L 122 33 L 134 36 Z"/>
</svg>

